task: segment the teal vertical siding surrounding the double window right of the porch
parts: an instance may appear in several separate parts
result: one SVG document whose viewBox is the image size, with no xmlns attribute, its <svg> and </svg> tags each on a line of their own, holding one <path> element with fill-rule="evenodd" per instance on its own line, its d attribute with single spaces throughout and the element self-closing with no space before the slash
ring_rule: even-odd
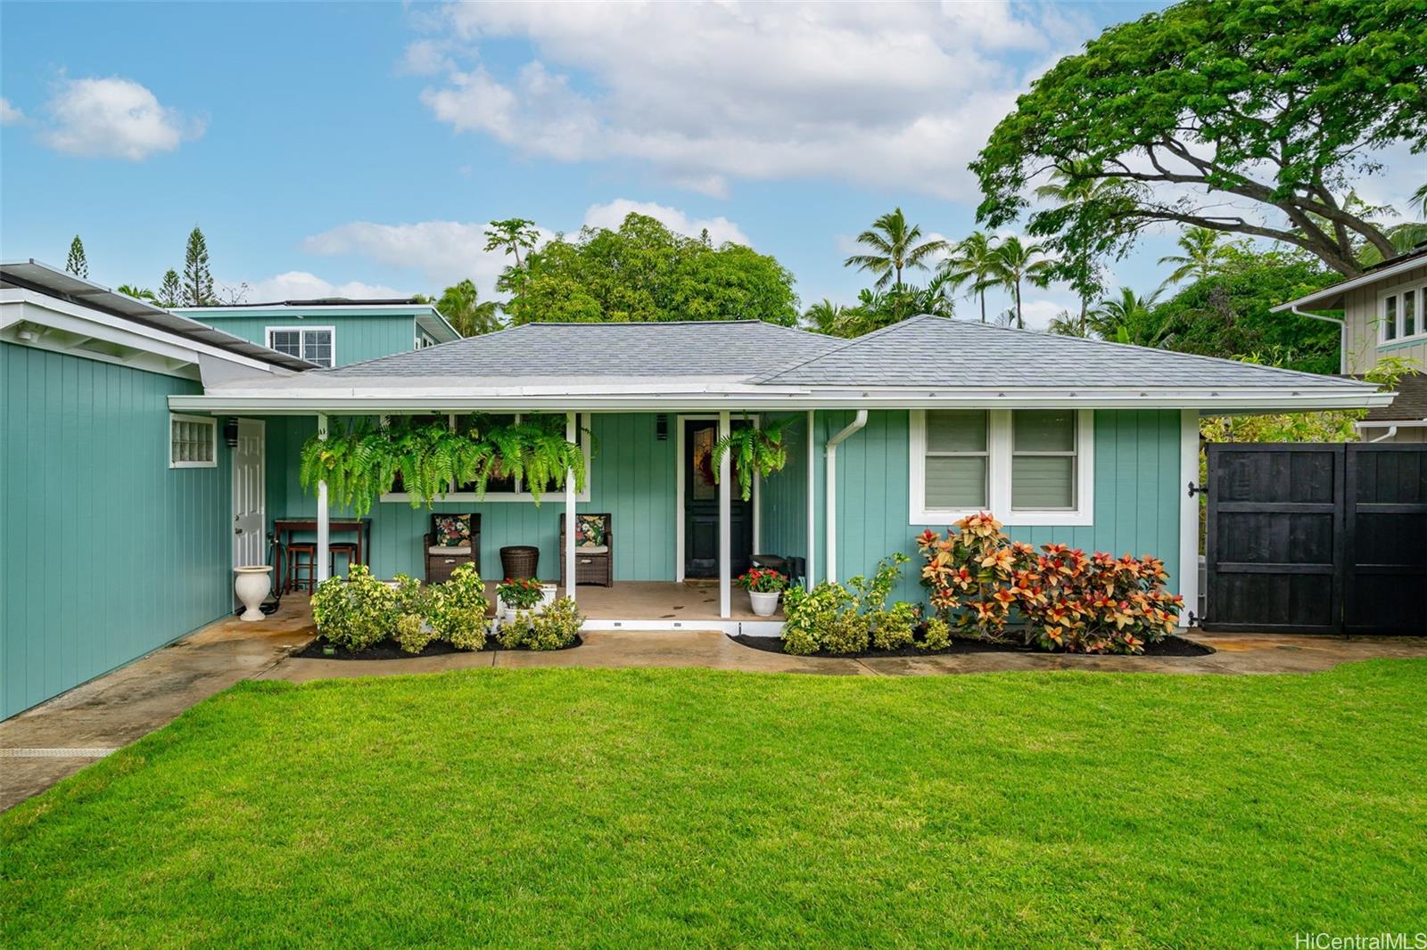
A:
<svg viewBox="0 0 1427 950">
<path fill-rule="evenodd" d="M 850 411 L 818 414 L 815 444 L 826 442 L 852 421 Z M 838 448 L 838 578 L 876 571 L 880 558 L 900 551 L 912 558 L 893 596 L 920 602 L 920 558 L 915 538 L 926 528 L 909 525 L 909 442 L 906 411 L 873 411 L 868 425 Z M 1086 551 L 1154 555 L 1179 591 L 1180 412 L 1177 409 L 1096 411 L 1095 523 L 1082 526 L 1013 526 L 1006 533 L 1033 545 L 1067 543 Z M 818 472 L 818 512 L 823 511 L 825 478 Z M 819 521 L 822 521 L 819 518 Z M 819 532 L 818 575 L 826 551 Z M 1190 565 L 1193 568 L 1194 565 Z"/>
</svg>

